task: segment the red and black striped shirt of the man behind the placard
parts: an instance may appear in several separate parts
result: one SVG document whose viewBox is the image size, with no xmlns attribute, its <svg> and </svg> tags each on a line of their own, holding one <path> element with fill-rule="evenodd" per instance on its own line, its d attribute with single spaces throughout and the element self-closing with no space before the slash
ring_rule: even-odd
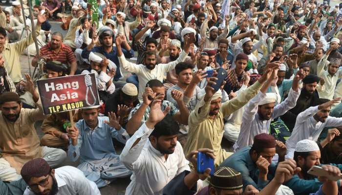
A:
<svg viewBox="0 0 342 195">
<path fill-rule="evenodd" d="M 47 43 L 40 49 L 41 56 L 48 57 L 51 60 L 56 60 L 64 64 L 76 62 L 75 54 L 72 52 L 69 46 L 62 43 L 60 51 L 56 54 L 53 50 L 51 50 L 50 45 L 51 43 Z"/>
</svg>

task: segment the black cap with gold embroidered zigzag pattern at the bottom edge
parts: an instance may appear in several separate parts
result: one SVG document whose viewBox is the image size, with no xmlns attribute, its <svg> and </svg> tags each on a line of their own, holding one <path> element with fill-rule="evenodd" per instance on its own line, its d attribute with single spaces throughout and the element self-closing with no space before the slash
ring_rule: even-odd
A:
<svg viewBox="0 0 342 195">
<path fill-rule="evenodd" d="M 210 185 L 216 189 L 237 190 L 241 189 L 242 175 L 229 167 L 219 167 L 210 177 Z"/>
</svg>

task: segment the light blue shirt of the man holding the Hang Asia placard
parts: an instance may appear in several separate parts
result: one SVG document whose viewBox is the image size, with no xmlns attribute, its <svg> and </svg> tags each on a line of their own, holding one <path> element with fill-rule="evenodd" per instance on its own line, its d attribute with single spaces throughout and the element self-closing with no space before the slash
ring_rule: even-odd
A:
<svg viewBox="0 0 342 195">
<path fill-rule="evenodd" d="M 77 145 L 69 145 L 68 156 L 71 161 L 76 161 L 81 156 L 81 161 L 84 160 L 100 160 L 107 154 L 116 154 L 112 137 L 122 143 L 126 143 L 129 139 L 126 130 L 121 128 L 119 131 L 110 127 L 105 121 L 109 121 L 108 117 L 97 117 L 98 124 L 94 130 L 91 130 L 85 123 L 85 120 L 79 120 L 75 126 L 79 130 Z M 123 133 L 126 133 L 124 136 Z M 76 156 L 74 156 L 76 153 Z"/>
</svg>

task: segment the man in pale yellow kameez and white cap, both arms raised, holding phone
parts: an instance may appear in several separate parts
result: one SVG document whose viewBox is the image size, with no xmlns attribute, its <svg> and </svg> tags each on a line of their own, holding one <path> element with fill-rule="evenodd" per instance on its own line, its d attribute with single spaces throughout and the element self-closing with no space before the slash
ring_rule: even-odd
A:
<svg viewBox="0 0 342 195">
<path fill-rule="evenodd" d="M 271 70 L 268 71 L 268 73 Z M 208 84 L 205 87 L 205 95 L 196 105 L 189 117 L 188 141 L 184 147 L 184 153 L 189 154 L 197 148 L 213 149 L 216 159 L 215 165 L 219 165 L 224 159 L 230 156 L 221 148 L 223 137 L 224 117 L 229 116 L 236 110 L 244 106 L 251 98 L 256 96 L 262 84 L 271 76 L 264 74 L 259 80 L 243 91 L 238 97 L 221 104 L 222 92 L 215 91 L 211 85 L 221 83 L 221 88 L 225 84 L 223 80 L 215 77 L 207 78 Z"/>
</svg>

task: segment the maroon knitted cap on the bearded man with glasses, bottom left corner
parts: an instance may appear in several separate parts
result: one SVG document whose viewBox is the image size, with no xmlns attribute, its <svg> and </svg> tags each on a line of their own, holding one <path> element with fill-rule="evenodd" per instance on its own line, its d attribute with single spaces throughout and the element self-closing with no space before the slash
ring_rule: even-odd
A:
<svg viewBox="0 0 342 195">
<path fill-rule="evenodd" d="M 50 171 L 50 165 L 43 158 L 35 158 L 22 166 L 20 174 L 24 181 L 28 183 L 32 177 L 46 176 Z"/>
</svg>

